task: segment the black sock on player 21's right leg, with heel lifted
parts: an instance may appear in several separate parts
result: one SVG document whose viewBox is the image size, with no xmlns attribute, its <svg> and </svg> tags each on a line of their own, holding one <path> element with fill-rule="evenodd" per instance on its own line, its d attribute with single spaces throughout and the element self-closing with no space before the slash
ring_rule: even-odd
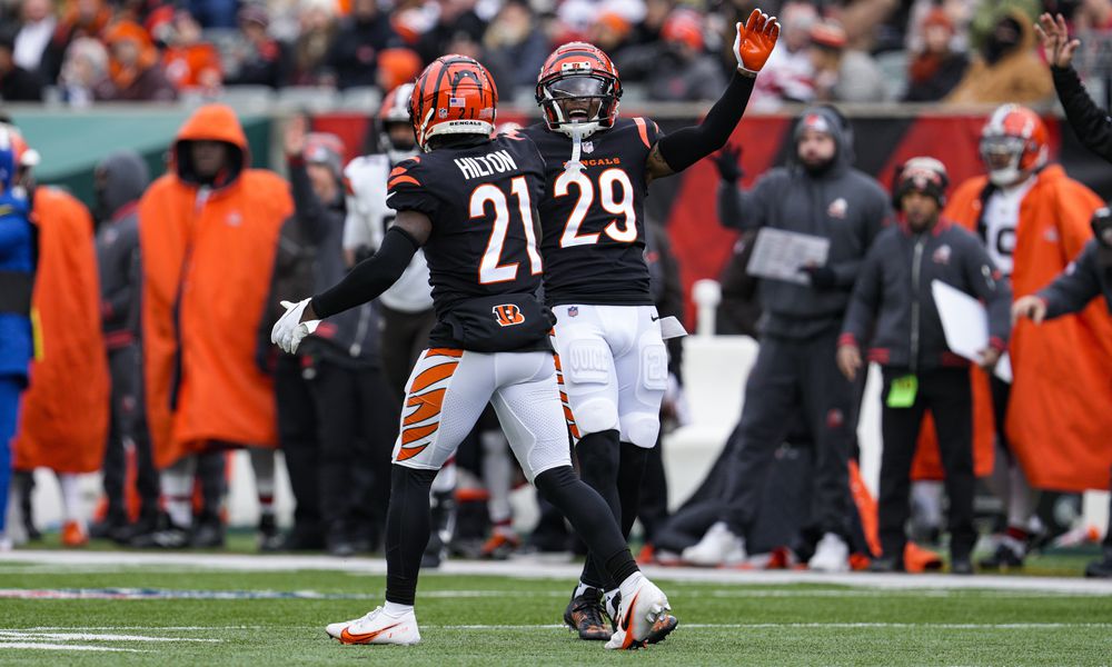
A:
<svg viewBox="0 0 1112 667">
<path fill-rule="evenodd" d="M 534 484 L 537 491 L 560 510 L 576 532 L 587 544 L 602 568 L 602 577 L 609 587 L 638 571 L 629 547 L 618 529 L 617 521 L 606 511 L 606 502 L 568 467 L 545 470 Z M 598 586 L 584 579 L 584 584 Z M 599 586 L 604 588 L 604 586 Z"/>
</svg>

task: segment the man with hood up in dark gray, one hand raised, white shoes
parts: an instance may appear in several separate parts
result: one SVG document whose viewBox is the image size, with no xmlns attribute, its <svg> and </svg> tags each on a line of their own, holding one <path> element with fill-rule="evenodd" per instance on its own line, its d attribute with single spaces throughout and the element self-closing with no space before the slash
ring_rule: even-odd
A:
<svg viewBox="0 0 1112 667">
<path fill-rule="evenodd" d="M 835 352 L 862 259 L 891 208 L 880 183 L 853 169 L 852 131 L 836 109 L 804 111 L 793 139 L 795 159 L 766 173 L 752 190 L 726 179 L 718 217 L 727 227 L 768 227 L 826 239 L 827 261 L 800 266 L 804 279 L 798 282 L 761 281 L 761 349 L 745 386 L 728 509 L 698 544 L 684 550 L 684 559 L 696 565 L 745 558 L 745 532 L 768 465 L 802 407 L 815 444 L 814 520 L 822 534 L 808 565 L 830 571 L 848 568 L 847 462 L 858 391 L 838 372 Z M 719 161 L 736 160 L 736 155 L 724 150 Z"/>
</svg>

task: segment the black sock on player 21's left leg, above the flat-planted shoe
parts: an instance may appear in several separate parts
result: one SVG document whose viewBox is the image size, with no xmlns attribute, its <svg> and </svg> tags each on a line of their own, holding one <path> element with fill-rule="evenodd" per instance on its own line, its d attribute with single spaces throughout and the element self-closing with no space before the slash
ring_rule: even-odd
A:
<svg viewBox="0 0 1112 667">
<path fill-rule="evenodd" d="M 411 606 L 431 527 L 428 491 L 436 470 L 393 468 L 390 507 L 386 510 L 386 601 Z"/>
</svg>

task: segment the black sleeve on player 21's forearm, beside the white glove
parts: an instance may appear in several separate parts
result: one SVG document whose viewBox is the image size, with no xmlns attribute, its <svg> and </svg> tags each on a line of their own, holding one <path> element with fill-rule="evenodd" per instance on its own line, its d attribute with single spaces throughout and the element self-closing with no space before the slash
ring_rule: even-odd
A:
<svg viewBox="0 0 1112 667">
<path fill-rule="evenodd" d="M 324 319 L 378 298 L 401 277 L 418 248 L 420 243 L 408 231 L 389 228 L 378 252 L 357 263 L 331 289 L 312 297 L 312 311 Z"/>
</svg>

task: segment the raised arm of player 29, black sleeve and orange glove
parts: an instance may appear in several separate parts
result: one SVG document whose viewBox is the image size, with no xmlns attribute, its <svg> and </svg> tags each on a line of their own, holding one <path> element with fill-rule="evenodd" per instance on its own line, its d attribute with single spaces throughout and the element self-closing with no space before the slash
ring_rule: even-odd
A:
<svg viewBox="0 0 1112 667">
<path fill-rule="evenodd" d="M 780 23 L 775 17 L 754 9 L 745 24 L 737 23 L 736 28 L 737 71 L 729 79 L 726 91 L 711 107 L 702 123 L 677 130 L 653 146 L 646 165 L 649 180 L 683 171 L 725 146 L 745 113 L 757 72 L 780 38 Z"/>
</svg>

